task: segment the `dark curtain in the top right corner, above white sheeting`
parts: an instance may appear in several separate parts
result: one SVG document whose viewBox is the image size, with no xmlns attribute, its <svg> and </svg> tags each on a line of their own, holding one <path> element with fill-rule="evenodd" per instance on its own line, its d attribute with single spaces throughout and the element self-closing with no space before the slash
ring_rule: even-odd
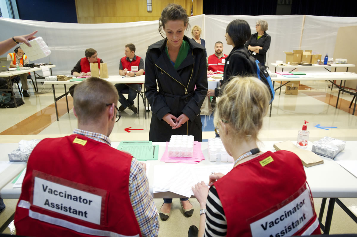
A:
<svg viewBox="0 0 357 237">
<path fill-rule="evenodd" d="M 356 17 L 357 1 L 311 1 L 293 0 L 291 15 L 347 16 Z"/>
</svg>

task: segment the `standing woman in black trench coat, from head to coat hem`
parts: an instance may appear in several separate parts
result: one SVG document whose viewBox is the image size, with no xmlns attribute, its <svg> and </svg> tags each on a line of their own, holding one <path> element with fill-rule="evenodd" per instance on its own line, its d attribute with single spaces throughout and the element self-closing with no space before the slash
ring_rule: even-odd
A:
<svg viewBox="0 0 357 237">
<path fill-rule="evenodd" d="M 195 141 L 202 141 L 199 115 L 207 94 L 205 47 L 183 35 L 188 17 L 187 22 L 171 20 L 165 9 L 160 30 L 167 38 L 149 46 L 145 58 L 145 95 L 153 112 L 149 140 L 166 142 L 175 134 L 193 135 Z"/>
</svg>

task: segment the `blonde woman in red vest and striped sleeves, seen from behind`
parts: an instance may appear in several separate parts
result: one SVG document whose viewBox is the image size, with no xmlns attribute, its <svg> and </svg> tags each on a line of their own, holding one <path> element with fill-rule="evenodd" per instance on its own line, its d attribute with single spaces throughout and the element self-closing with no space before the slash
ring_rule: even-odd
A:
<svg viewBox="0 0 357 237">
<path fill-rule="evenodd" d="M 198 236 L 321 234 L 299 157 L 258 149 L 267 86 L 254 77 L 233 77 L 223 90 L 214 123 L 235 162 L 228 174 L 210 175 L 209 190 L 203 181 L 192 187 L 201 206 Z M 191 226 L 189 232 L 195 231 Z"/>
</svg>

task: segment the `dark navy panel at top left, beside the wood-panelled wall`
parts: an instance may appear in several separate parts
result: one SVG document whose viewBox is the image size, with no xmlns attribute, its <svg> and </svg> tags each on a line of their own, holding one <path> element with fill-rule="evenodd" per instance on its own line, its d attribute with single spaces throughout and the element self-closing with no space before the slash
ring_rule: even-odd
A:
<svg viewBox="0 0 357 237">
<path fill-rule="evenodd" d="M 77 23 L 74 0 L 16 0 L 21 20 Z"/>
</svg>

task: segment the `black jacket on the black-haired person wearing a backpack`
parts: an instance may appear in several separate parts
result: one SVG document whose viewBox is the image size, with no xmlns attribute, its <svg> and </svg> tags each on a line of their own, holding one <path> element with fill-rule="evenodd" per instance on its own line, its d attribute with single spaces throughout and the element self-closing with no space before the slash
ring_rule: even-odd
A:
<svg viewBox="0 0 357 237">
<path fill-rule="evenodd" d="M 244 56 L 242 53 L 237 53 L 238 50 L 243 49 L 247 51 L 244 46 L 234 47 L 232 51 L 229 53 L 228 57 L 226 57 L 226 62 L 224 64 L 223 70 L 223 80 L 221 82 L 221 89 L 215 89 L 215 96 L 220 96 L 222 93 L 223 86 L 230 81 L 230 77 L 232 76 L 245 76 L 255 73 L 252 69 L 252 64 L 249 59 Z"/>
</svg>

